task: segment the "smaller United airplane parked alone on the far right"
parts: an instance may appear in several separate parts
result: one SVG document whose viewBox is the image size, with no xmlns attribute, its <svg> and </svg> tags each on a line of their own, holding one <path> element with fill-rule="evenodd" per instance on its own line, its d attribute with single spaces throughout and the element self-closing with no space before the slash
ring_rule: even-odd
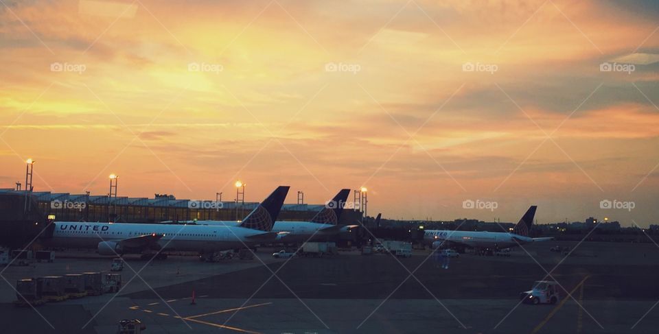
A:
<svg viewBox="0 0 659 334">
<path fill-rule="evenodd" d="M 519 246 L 524 243 L 536 241 L 548 241 L 553 237 L 531 238 L 529 229 L 533 224 L 535 209 L 537 206 L 529 207 L 527 213 L 524 213 L 520 222 L 517 223 L 513 232 L 476 232 L 461 230 L 426 230 L 424 232 L 424 241 L 431 243 L 432 248 L 440 246 L 456 245 L 459 247 L 477 248 L 479 250 L 500 250 L 513 246 Z"/>
</svg>

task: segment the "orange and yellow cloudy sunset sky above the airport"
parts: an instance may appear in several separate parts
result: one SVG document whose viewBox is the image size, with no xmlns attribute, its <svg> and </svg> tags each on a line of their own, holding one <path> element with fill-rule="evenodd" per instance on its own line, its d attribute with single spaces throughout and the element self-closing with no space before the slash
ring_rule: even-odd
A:
<svg viewBox="0 0 659 334">
<path fill-rule="evenodd" d="M 659 222 L 655 1 L 0 2 L 1 188 Z"/>
</svg>

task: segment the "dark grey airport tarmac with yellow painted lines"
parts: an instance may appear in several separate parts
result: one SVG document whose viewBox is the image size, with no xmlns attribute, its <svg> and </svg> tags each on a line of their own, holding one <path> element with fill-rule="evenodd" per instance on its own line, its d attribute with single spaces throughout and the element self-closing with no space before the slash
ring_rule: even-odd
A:
<svg viewBox="0 0 659 334">
<path fill-rule="evenodd" d="M 572 251 L 549 251 L 557 245 Z M 127 263 L 139 276 L 126 267 L 117 296 L 49 303 L 38 313 L 11 305 L 8 282 L 18 278 L 110 267 L 111 259 L 73 252 L 60 255 L 76 259 L 7 267 L 0 322 L 15 324 L 3 333 L 116 333 L 119 320 L 132 318 L 146 333 L 656 333 L 659 247 L 575 246 L 548 241 L 510 257 L 461 254 L 448 269 L 422 250 L 408 259 L 345 252 L 288 261 L 266 248 L 260 261 L 135 259 Z M 520 292 L 541 279 L 557 281 L 562 299 L 520 304 Z"/>
</svg>

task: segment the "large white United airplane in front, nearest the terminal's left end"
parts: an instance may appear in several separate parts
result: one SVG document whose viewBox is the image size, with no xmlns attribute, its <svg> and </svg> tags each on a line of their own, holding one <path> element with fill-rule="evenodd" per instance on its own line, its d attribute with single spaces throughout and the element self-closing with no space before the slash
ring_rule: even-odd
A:
<svg viewBox="0 0 659 334">
<path fill-rule="evenodd" d="M 182 250 L 212 257 L 222 250 L 248 248 L 281 237 L 272 228 L 289 188 L 277 187 L 238 226 L 54 222 L 43 243 L 49 247 L 96 248 L 101 255 Z M 166 258 L 162 252 L 157 254 L 159 259 Z"/>
</svg>

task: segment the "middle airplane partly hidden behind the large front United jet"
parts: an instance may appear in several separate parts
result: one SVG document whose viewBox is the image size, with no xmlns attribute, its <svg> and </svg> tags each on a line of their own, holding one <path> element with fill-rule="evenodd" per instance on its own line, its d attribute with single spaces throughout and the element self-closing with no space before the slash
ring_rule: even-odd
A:
<svg viewBox="0 0 659 334">
<path fill-rule="evenodd" d="M 358 225 L 338 225 L 338 220 L 343 212 L 350 189 L 341 189 L 332 200 L 325 203 L 325 208 L 316 213 L 309 222 L 275 222 L 273 232 L 281 233 L 282 237 L 277 239 L 281 243 L 301 243 L 311 239 L 327 239 L 341 232 L 349 232 Z M 238 222 L 224 222 L 217 220 L 198 220 L 196 224 L 209 226 L 235 226 Z"/>
</svg>

